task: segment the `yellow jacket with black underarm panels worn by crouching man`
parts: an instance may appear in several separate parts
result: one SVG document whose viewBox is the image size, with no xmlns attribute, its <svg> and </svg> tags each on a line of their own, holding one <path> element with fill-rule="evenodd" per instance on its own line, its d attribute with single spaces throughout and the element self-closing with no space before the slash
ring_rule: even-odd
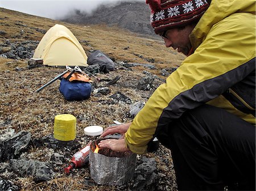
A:
<svg viewBox="0 0 256 191">
<path fill-rule="evenodd" d="M 125 134 L 131 151 L 203 103 L 255 124 L 255 0 L 212 0 L 189 39 L 195 52 L 159 86 Z"/>
</svg>

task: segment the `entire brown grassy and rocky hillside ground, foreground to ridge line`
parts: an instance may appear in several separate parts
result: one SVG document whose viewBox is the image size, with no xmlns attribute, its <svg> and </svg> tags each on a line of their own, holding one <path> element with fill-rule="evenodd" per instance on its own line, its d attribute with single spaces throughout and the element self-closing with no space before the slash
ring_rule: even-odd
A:
<svg viewBox="0 0 256 191">
<path fill-rule="evenodd" d="M 137 155 L 134 177 L 122 186 L 97 185 L 89 164 L 67 175 L 72 155 L 98 137 L 84 128 L 107 128 L 115 121 L 129 122 L 152 92 L 178 67 L 184 56 L 167 49 L 163 41 L 137 36 L 119 28 L 78 26 L 0 8 L 0 190 L 176 190 L 170 150 Z M 92 94 L 67 101 L 60 80 L 40 92 L 43 84 L 65 69 L 28 66 L 44 33 L 55 24 L 71 29 L 86 54 L 101 50 L 115 62 L 103 73 L 89 66 Z M 57 114 L 77 119 L 75 141 L 63 145 L 53 138 Z"/>
</svg>

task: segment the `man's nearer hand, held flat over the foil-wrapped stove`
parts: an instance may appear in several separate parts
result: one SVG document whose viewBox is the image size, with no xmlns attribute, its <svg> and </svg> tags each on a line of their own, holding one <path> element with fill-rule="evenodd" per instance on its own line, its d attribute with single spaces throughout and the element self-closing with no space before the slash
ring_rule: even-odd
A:
<svg viewBox="0 0 256 191">
<path fill-rule="evenodd" d="M 98 143 L 100 148 L 110 148 L 113 151 L 130 151 L 126 145 L 125 139 L 106 139 Z"/>
</svg>

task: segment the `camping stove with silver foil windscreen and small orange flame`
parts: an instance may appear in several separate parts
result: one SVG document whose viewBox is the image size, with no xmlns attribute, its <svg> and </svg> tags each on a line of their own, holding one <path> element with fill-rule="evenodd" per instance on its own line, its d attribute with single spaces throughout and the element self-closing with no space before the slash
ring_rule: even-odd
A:
<svg viewBox="0 0 256 191">
<path fill-rule="evenodd" d="M 131 180 L 136 167 L 136 154 L 98 148 L 101 139 L 90 145 L 90 176 L 101 185 L 123 185 Z"/>
</svg>

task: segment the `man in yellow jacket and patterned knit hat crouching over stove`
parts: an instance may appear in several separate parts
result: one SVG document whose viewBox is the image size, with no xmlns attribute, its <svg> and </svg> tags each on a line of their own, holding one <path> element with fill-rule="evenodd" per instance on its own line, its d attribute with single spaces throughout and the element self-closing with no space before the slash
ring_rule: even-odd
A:
<svg viewBox="0 0 256 191">
<path fill-rule="evenodd" d="M 188 57 L 100 147 L 143 154 L 158 137 L 179 190 L 255 190 L 255 1 L 147 3 L 155 33 Z"/>
</svg>

